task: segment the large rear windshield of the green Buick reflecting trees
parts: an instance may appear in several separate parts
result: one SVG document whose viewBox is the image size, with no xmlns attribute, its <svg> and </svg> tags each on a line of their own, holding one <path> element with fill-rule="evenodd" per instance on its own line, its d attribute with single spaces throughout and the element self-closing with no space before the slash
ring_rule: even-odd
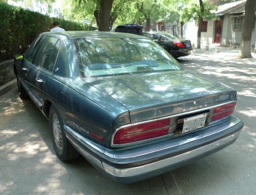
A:
<svg viewBox="0 0 256 195">
<path fill-rule="evenodd" d="M 80 73 L 85 78 L 182 69 L 167 51 L 148 39 L 74 41 Z"/>
</svg>

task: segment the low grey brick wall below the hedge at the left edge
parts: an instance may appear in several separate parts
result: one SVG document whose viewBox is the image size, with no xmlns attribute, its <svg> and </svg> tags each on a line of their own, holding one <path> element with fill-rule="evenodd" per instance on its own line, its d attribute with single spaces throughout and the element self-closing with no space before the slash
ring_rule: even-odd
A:
<svg viewBox="0 0 256 195">
<path fill-rule="evenodd" d="M 13 60 L 1 61 L 0 62 L 0 86 L 15 79 L 13 73 Z"/>
</svg>

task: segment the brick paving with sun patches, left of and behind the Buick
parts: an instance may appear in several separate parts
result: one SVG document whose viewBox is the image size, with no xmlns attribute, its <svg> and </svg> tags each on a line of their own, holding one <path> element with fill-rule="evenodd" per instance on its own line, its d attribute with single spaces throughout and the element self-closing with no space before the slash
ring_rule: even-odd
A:
<svg viewBox="0 0 256 195">
<path fill-rule="evenodd" d="M 180 194 L 169 172 L 133 184 L 117 184 L 84 158 L 56 158 L 48 120 L 17 88 L 0 96 L 0 194 Z"/>
</svg>

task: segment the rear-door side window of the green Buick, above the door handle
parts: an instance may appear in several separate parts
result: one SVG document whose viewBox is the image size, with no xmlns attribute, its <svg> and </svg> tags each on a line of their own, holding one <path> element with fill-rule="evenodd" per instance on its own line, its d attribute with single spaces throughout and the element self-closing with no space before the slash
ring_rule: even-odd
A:
<svg viewBox="0 0 256 195">
<path fill-rule="evenodd" d="M 59 38 L 47 36 L 36 54 L 34 64 L 52 72 L 59 47 Z"/>
</svg>

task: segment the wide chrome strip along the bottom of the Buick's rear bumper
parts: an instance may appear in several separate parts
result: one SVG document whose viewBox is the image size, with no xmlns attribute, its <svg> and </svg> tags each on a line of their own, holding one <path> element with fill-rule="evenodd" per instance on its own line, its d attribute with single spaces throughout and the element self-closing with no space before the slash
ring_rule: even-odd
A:
<svg viewBox="0 0 256 195">
<path fill-rule="evenodd" d="M 240 130 L 241 131 L 241 130 Z M 170 157 L 168 159 L 159 160 L 154 163 L 142 165 L 139 167 L 134 168 L 127 168 L 127 169 L 118 169 L 115 167 L 111 167 L 110 165 L 107 165 L 105 163 L 102 163 L 103 169 L 113 175 L 114 177 L 133 177 L 140 174 L 145 174 L 152 172 L 154 170 L 158 170 L 161 168 L 168 167 L 169 165 L 175 165 L 179 162 L 182 162 L 184 160 L 195 158 L 196 156 L 200 156 L 202 154 L 206 154 L 207 152 L 220 148 L 221 146 L 224 146 L 225 144 L 235 140 L 238 136 L 240 131 L 236 132 L 233 135 L 230 135 L 228 137 L 225 137 L 224 139 L 218 140 L 216 142 L 213 142 L 212 144 L 208 144 L 206 146 L 202 146 L 201 148 L 197 148 L 195 150 L 187 151 L 186 153 L 179 154 L 177 156 Z"/>
</svg>

